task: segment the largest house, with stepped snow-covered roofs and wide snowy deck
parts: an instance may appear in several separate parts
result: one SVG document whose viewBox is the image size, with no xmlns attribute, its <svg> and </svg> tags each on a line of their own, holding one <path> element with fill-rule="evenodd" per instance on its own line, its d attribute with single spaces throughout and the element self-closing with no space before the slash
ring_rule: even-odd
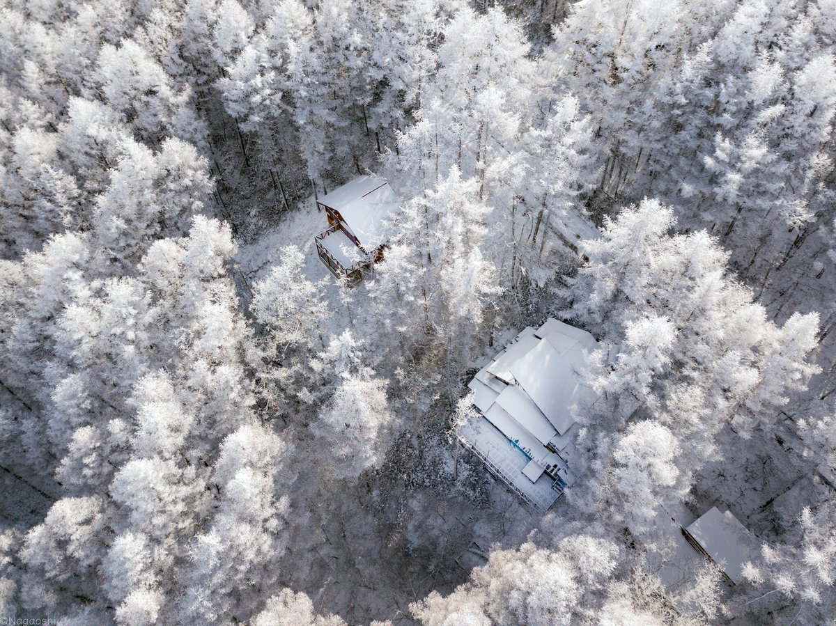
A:
<svg viewBox="0 0 836 626">
<path fill-rule="evenodd" d="M 573 482 L 564 455 L 573 407 L 598 399 L 583 377 L 595 349 L 591 334 L 549 318 L 524 328 L 468 385 L 479 415 L 460 426 L 459 440 L 543 511 Z"/>
</svg>

